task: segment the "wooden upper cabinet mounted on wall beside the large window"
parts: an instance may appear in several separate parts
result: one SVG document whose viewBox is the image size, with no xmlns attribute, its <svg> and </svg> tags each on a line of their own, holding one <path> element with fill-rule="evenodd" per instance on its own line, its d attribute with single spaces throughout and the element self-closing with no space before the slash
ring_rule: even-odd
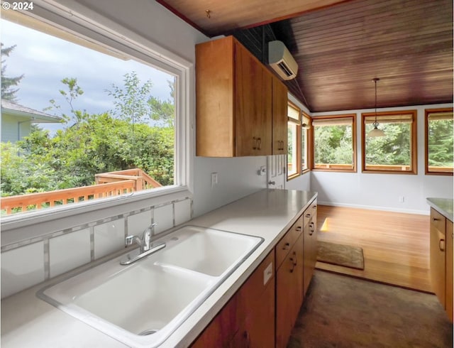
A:
<svg viewBox="0 0 454 348">
<path fill-rule="evenodd" d="M 233 36 L 196 45 L 196 156 L 286 153 L 283 104 L 287 87 Z"/>
</svg>

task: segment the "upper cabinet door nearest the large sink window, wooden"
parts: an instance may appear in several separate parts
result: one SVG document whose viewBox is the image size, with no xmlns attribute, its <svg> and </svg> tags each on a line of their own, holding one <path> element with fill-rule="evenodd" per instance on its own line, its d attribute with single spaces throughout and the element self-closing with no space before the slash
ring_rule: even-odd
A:
<svg viewBox="0 0 454 348">
<path fill-rule="evenodd" d="M 271 154 L 271 77 L 240 43 L 235 44 L 236 156 Z"/>
</svg>

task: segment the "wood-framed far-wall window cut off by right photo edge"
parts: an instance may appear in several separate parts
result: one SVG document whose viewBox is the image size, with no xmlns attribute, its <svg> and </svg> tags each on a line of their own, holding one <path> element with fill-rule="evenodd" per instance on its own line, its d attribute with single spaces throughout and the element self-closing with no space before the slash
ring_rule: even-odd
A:
<svg viewBox="0 0 454 348">
<path fill-rule="evenodd" d="M 453 175 L 453 108 L 428 109 L 426 174 Z"/>
</svg>

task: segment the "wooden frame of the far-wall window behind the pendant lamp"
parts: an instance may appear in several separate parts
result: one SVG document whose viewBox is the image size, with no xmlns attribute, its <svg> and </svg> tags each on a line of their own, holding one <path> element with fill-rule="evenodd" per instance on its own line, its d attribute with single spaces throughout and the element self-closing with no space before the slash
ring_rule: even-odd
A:
<svg viewBox="0 0 454 348">
<path fill-rule="evenodd" d="M 366 168 L 366 126 L 365 119 L 366 117 L 375 117 L 380 116 L 396 116 L 409 114 L 411 115 L 411 156 L 410 156 L 410 170 L 387 170 L 387 169 L 367 169 Z M 418 173 L 418 112 L 417 110 L 401 110 L 401 111 L 389 111 L 389 112 L 363 112 L 361 114 L 361 171 L 362 173 L 378 173 L 378 174 L 403 174 L 403 175 L 416 175 Z"/>
</svg>

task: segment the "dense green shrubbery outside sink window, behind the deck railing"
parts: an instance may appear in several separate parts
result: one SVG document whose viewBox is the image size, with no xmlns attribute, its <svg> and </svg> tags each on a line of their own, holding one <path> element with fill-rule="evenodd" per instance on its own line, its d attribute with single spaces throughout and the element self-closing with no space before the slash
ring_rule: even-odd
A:
<svg viewBox="0 0 454 348">
<path fill-rule="evenodd" d="M 128 168 L 141 168 L 161 185 L 174 183 L 173 126 L 135 124 L 132 139 L 130 118 L 77 110 L 82 88 L 76 79 L 62 83 L 67 91 L 60 94 L 72 112 L 64 128 L 50 136 L 35 127 L 23 141 L 1 144 L 2 196 L 93 185 L 97 173 Z M 61 110 L 56 102 L 51 107 Z M 76 123 L 71 124 L 74 117 Z"/>
</svg>

